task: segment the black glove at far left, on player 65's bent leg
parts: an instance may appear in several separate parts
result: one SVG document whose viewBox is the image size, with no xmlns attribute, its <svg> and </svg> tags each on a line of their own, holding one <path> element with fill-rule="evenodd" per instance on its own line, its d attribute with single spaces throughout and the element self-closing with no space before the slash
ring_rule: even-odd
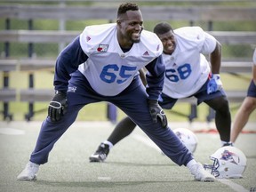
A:
<svg viewBox="0 0 256 192">
<path fill-rule="evenodd" d="M 56 91 L 48 107 L 48 116 L 52 122 L 60 121 L 60 118 L 66 113 L 67 107 L 67 93 Z"/>
</svg>

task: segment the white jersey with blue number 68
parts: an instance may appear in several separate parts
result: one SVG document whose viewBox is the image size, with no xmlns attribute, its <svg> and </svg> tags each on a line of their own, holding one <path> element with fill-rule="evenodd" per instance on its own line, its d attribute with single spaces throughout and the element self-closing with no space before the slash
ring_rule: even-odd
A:
<svg viewBox="0 0 256 192">
<path fill-rule="evenodd" d="M 178 28 L 174 36 L 174 52 L 163 54 L 166 68 L 163 92 L 179 99 L 193 95 L 206 82 L 211 68 L 202 53 L 213 52 L 217 41 L 199 27 Z"/>
</svg>

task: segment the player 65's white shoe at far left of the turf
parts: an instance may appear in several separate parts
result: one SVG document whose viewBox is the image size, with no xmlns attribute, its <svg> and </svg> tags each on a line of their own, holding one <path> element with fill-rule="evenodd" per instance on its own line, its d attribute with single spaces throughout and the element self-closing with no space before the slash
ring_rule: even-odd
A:
<svg viewBox="0 0 256 192">
<path fill-rule="evenodd" d="M 18 175 L 17 180 L 36 180 L 38 170 L 39 164 L 28 162 L 25 169 Z"/>
</svg>

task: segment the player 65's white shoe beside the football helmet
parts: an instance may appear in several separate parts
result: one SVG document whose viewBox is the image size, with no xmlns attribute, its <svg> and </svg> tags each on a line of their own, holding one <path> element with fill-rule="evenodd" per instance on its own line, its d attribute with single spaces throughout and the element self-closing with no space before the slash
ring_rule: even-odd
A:
<svg viewBox="0 0 256 192">
<path fill-rule="evenodd" d="M 195 180 L 199 181 L 214 181 L 215 177 L 210 173 L 204 170 L 204 167 L 200 163 L 194 164 L 190 172 L 194 175 Z"/>
</svg>

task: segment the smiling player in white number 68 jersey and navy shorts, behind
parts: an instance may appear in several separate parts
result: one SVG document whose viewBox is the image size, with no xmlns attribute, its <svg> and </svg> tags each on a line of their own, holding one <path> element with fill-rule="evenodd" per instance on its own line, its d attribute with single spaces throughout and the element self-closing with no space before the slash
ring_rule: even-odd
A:
<svg viewBox="0 0 256 192">
<path fill-rule="evenodd" d="M 184 27 L 173 30 L 166 22 L 157 24 L 154 33 L 164 46 L 163 58 L 166 68 L 164 89 L 158 98 L 160 106 L 170 109 L 180 98 L 196 97 L 198 105 L 204 102 L 215 110 L 220 145 L 232 146 L 231 116 L 227 96 L 220 81 L 220 43 L 202 28 Z M 210 54 L 210 64 L 203 53 Z M 134 121 L 125 117 L 116 125 L 108 140 L 103 141 L 89 157 L 90 161 L 104 161 L 109 149 L 129 135 L 135 126 Z"/>
</svg>

